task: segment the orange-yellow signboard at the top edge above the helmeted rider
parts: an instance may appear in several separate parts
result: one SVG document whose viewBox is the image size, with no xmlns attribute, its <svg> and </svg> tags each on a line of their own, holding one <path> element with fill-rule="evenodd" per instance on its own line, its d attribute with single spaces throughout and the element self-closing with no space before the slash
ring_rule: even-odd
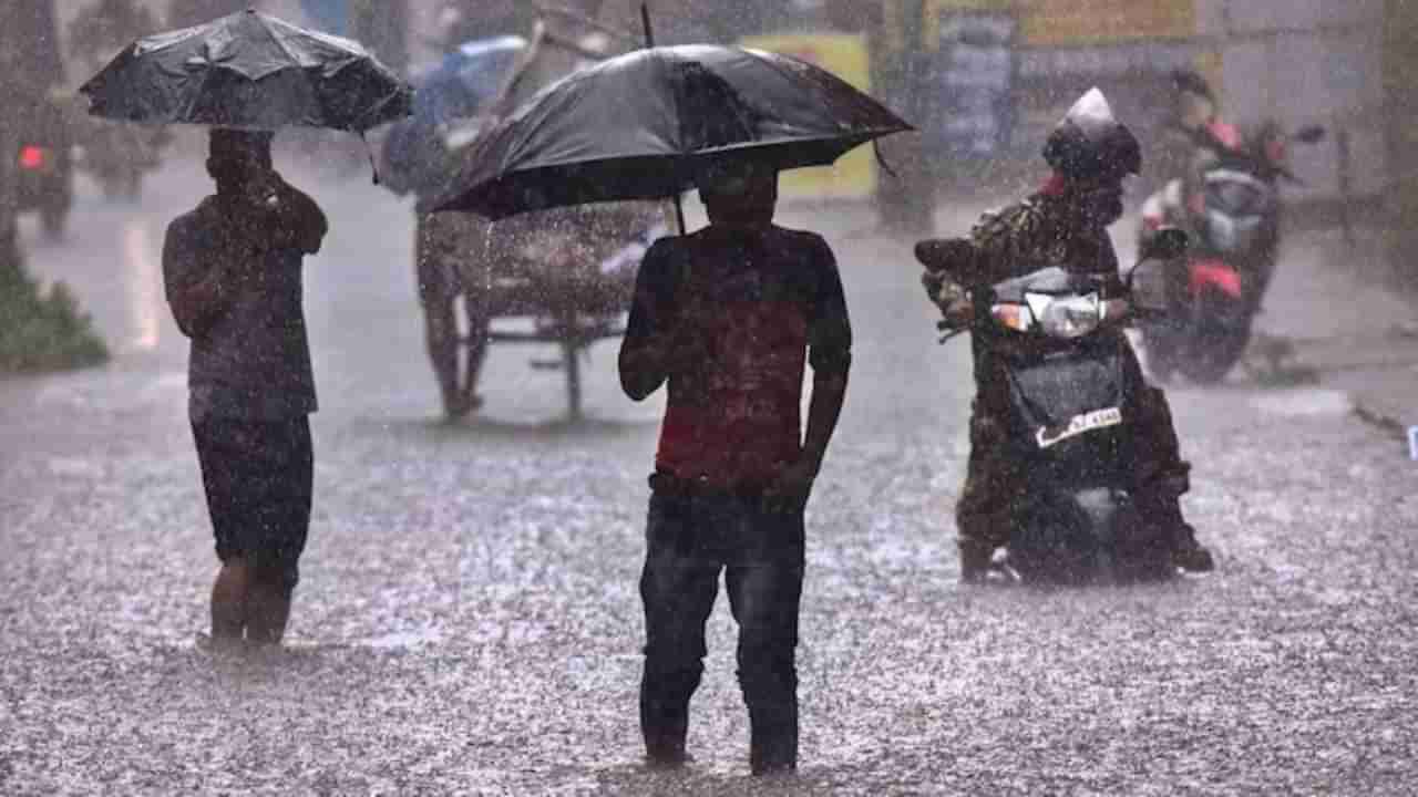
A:
<svg viewBox="0 0 1418 797">
<path fill-rule="evenodd" d="M 940 41 L 940 14 L 1012 11 L 1024 47 L 1081 47 L 1197 35 L 1194 0 L 926 0 L 926 45 Z"/>
</svg>

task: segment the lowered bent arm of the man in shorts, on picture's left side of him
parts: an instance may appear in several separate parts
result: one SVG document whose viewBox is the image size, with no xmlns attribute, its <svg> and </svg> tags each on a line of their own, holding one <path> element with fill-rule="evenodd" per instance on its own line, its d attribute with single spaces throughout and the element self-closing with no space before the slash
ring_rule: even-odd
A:
<svg viewBox="0 0 1418 797">
<path fill-rule="evenodd" d="M 173 221 L 163 240 L 163 285 L 177 329 L 201 338 L 235 298 L 235 258 L 211 257 L 199 248 L 186 220 Z"/>
</svg>

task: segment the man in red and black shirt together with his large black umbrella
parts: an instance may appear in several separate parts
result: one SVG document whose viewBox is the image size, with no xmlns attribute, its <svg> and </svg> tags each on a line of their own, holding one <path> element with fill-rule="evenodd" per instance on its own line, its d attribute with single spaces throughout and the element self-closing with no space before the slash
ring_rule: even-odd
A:
<svg viewBox="0 0 1418 797">
<path fill-rule="evenodd" d="M 831 248 L 773 224 L 777 174 L 909 129 L 803 61 L 649 47 L 537 92 L 424 203 L 502 218 L 698 187 L 709 211 L 708 228 L 645 252 L 620 355 L 631 398 L 669 391 L 641 576 L 640 709 L 655 764 L 686 760 L 689 699 L 723 570 L 753 771 L 797 767 L 803 509 L 847 394 L 852 332 Z"/>
</svg>

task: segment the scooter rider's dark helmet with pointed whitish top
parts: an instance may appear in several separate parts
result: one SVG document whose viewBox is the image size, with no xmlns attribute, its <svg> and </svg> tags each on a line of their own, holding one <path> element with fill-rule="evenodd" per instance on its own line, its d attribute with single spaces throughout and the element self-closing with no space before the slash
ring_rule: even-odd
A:
<svg viewBox="0 0 1418 797">
<path fill-rule="evenodd" d="M 1044 160 L 1071 179 L 1117 177 L 1141 170 L 1137 138 L 1113 116 L 1096 87 L 1079 98 L 1049 133 Z"/>
</svg>

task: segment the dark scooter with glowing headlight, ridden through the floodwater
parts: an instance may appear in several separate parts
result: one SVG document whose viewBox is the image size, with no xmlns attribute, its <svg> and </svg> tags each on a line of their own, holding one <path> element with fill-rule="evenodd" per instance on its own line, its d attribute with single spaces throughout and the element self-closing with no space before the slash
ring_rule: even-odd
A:
<svg viewBox="0 0 1418 797">
<path fill-rule="evenodd" d="M 997 359 L 1008 381 L 1005 455 L 1032 485 L 1011 503 L 1010 542 L 1004 557 L 995 556 L 994 570 L 1010 580 L 1124 584 L 1176 576 L 1168 532 L 1129 494 L 1134 397 L 1144 381 L 1120 328 L 1163 312 L 1134 292 L 1156 291 L 1157 269 L 1185 248 L 1185 233 L 1159 230 L 1126 279 L 1039 268 L 970 292 L 973 318 L 942 322 L 943 340 L 970 332 L 976 356 Z M 917 260 L 951 278 L 949 258 L 917 250 Z"/>
</svg>

